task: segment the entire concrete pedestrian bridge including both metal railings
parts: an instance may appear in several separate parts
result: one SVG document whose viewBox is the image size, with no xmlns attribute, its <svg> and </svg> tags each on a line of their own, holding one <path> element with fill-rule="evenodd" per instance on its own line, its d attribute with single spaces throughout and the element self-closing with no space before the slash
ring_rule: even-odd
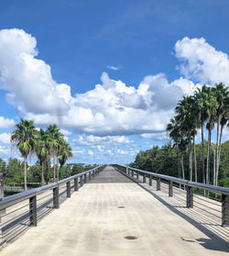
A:
<svg viewBox="0 0 229 256">
<path fill-rule="evenodd" d="M 208 187 L 221 203 L 168 177 L 102 166 L 6 197 L 0 254 L 228 255 L 229 189 Z"/>
</svg>

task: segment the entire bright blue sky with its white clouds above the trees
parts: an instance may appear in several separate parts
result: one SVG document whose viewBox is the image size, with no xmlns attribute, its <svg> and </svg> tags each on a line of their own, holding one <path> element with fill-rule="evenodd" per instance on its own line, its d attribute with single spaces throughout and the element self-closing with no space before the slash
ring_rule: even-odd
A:
<svg viewBox="0 0 229 256">
<path fill-rule="evenodd" d="M 229 85 L 228 13 L 227 0 L 1 1 L 0 157 L 19 157 L 20 117 L 57 123 L 70 162 L 165 144 L 182 95 Z"/>
</svg>

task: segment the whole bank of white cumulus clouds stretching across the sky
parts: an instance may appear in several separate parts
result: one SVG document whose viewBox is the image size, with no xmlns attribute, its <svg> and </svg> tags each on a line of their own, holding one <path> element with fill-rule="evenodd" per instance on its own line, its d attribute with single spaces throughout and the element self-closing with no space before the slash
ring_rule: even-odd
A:
<svg viewBox="0 0 229 256">
<path fill-rule="evenodd" d="M 71 135 L 69 129 L 82 134 L 75 143 L 119 143 L 119 139 L 127 143 L 125 135 L 144 137 L 165 131 L 182 95 L 191 95 L 200 86 L 190 79 L 229 81 L 228 56 L 205 39 L 181 39 L 175 51 L 184 77 L 169 82 L 164 73 L 158 73 L 132 86 L 104 72 L 102 83 L 93 90 L 71 95 L 71 86 L 55 82 L 49 65 L 38 60 L 34 37 L 21 29 L 4 29 L 0 30 L 0 88 L 8 92 L 8 102 L 36 125 L 57 123 L 65 136 Z"/>
</svg>

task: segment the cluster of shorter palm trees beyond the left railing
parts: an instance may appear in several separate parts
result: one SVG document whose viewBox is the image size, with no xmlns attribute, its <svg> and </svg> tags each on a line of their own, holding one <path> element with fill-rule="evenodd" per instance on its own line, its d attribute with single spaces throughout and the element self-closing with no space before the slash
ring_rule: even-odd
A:
<svg viewBox="0 0 229 256">
<path fill-rule="evenodd" d="M 41 185 L 44 185 L 44 168 L 53 162 L 53 182 L 59 181 L 59 163 L 62 167 L 72 157 L 70 144 L 64 139 L 57 125 L 47 129 L 35 128 L 32 120 L 22 119 L 11 133 L 11 142 L 24 159 L 24 186 L 27 190 L 27 157 L 37 155 L 41 166 Z"/>
</svg>

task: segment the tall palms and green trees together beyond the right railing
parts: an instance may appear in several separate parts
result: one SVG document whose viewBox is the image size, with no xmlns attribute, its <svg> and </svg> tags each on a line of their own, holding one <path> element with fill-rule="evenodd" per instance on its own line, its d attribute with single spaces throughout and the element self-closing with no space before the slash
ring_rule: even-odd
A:
<svg viewBox="0 0 229 256">
<path fill-rule="evenodd" d="M 183 96 L 175 107 L 175 116 L 170 119 L 167 126 L 169 138 L 176 151 L 176 161 L 174 161 L 176 162 L 176 167 L 174 166 L 174 170 L 178 172 L 177 174 L 174 172 L 171 173 L 183 179 L 186 178 L 204 184 L 218 185 L 222 137 L 224 128 L 229 127 L 228 119 L 229 87 L 225 86 L 224 83 L 215 83 L 214 87 L 204 84 L 193 95 Z M 212 134 L 215 127 L 216 140 L 215 143 L 212 143 Z M 204 139 L 204 128 L 207 130 L 207 139 Z M 198 151 L 202 155 L 201 166 L 197 161 L 197 157 L 199 158 L 200 155 L 197 156 L 196 151 L 197 148 L 199 149 L 199 146 L 196 146 L 198 129 L 201 129 L 202 134 L 202 150 L 201 152 Z M 214 152 L 212 163 L 211 150 Z M 155 153 L 155 149 L 152 152 L 148 152 L 151 158 L 155 157 Z M 136 161 L 133 165 L 136 165 L 136 167 L 141 165 L 143 167 L 142 165 L 144 164 L 141 164 L 140 161 L 143 161 L 144 158 L 146 158 L 145 153 L 141 151 L 136 156 Z M 167 160 L 165 159 L 164 161 Z M 187 164 L 185 161 L 189 162 L 188 167 L 186 167 Z M 145 167 L 147 167 L 146 165 L 147 163 Z M 211 167 L 213 168 L 212 177 Z M 185 168 L 189 169 L 188 173 Z M 154 171 L 158 173 L 157 170 Z"/>
</svg>

